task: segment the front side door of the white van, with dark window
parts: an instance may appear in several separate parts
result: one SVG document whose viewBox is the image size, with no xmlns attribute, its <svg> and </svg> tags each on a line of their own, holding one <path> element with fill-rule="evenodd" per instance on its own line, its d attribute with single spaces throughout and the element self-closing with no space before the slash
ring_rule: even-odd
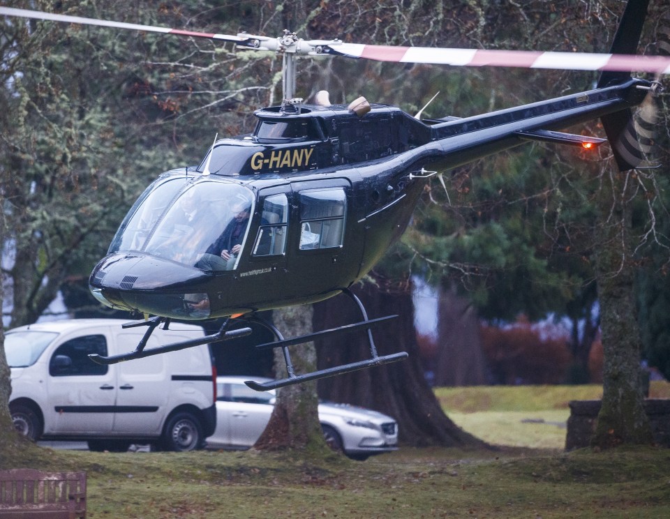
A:
<svg viewBox="0 0 670 519">
<path fill-rule="evenodd" d="M 112 430 L 117 396 L 115 366 L 89 354 L 107 355 L 103 331 L 65 340 L 53 350 L 47 375 L 45 435 L 104 435 Z"/>
</svg>

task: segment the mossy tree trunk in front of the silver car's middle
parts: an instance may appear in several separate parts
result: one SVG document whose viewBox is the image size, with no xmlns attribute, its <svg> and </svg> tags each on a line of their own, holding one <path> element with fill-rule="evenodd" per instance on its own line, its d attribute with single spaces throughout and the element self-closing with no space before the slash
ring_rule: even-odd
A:
<svg viewBox="0 0 670 519">
<path fill-rule="evenodd" d="M 312 331 L 312 313 L 311 306 L 274 310 L 274 325 L 287 337 L 306 335 Z M 274 372 L 277 377 L 286 377 L 282 351 L 280 348 L 274 351 Z M 314 343 L 292 346 L 290 354 L 296 374 L 315 370 Z M 315 382 L 278 389 L 270 421 L 254 447 L 261 450 L 309 449 L 312 452 L 328 452 L 319 423 Z"/>
</svg>

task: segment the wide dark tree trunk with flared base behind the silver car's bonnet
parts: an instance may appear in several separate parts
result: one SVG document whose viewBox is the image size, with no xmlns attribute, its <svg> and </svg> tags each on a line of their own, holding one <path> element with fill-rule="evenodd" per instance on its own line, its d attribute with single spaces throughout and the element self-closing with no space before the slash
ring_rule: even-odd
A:
<svg viewBox="0 0 670 519">
<path fill-rule="evenodd" d="M 399 438 L 405 445 L 484 446 L 456 426 L 442 412 L 431 390 L 419 360 L 414 328 L 414 310 L 409 283 L 402 289 L 385 287 L 385 280 L 374 276 L 376 283 L 357 285 L 359 296 L 369 318 L 398 314 L 399 317 L 373 329 L 380 355 L 406 351 L 409 359 L 385 366 L 355 371 L 319 381 L 319 394 L 326 400 L 369 407 L 393 416 L 399 424 Z M 361 320 L 355 304 L 337 296 L 314 306 L 316 330 L 342 326 Z M 319 368 L 350 363 L 370 356 L 367 336 L 363 332 L 318 340 Z"/>
</svg>

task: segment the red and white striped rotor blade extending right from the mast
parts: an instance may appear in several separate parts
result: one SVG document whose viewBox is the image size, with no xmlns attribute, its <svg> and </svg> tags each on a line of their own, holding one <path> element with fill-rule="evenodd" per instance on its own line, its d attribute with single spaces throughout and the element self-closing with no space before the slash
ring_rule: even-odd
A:
<svg viewBox="0 0 670 519">
<path fill-rule="evenodd" d="M 670 74 L 670 57 L 667 56 L 393 47 L 339 42 L 325 45 L 322 47 L 322 53 L 398 63 L 430 63 L 470 67 L 551 68 L 557 70 L 613 70 L 618 72 Z"/>
</svg>

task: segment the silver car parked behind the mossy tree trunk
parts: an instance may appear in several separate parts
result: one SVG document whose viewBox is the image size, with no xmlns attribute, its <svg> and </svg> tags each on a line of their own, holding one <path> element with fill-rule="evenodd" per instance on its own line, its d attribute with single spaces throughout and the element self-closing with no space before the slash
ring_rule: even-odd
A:
<svg viewBox="0 0 670 519">
<path fill-rule="evenodd" d="M 260 437 L 274 407 L 274 391 L 254 391 L 245 380 L 216 378 L 216 430 L 207 438 L 209 449 L 248 449 Z M 268 379 L 260 379 L 266 382 Z M 319 421 L 326 442 L 355 460 L 395 451 L 398 424 L 390 416 L 345 404 L 320 403 Z"/>
</svg>

